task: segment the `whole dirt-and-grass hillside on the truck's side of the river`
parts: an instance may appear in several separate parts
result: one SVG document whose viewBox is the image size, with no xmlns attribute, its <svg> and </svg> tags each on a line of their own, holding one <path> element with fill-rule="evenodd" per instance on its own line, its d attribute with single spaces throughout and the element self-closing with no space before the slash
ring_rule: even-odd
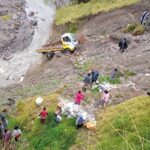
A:
<svg viewBox="0 0 150 150">
<path fill-rule="evenodd" d="M 144 30 L 140 35 L 125 32 L 129 23 L 139 25 L 143 11 L 150 10 L 150 3 L 147 0 L 114 0 L 111 3 L 91 1 L 65 6 L 56 11 L 50 40 L 60 37 L 64 32 L 74 32 L 77 37 L 83 37 L 75 53 L 65 55 L 58 52 L 49 61 L 45 56 L 41 56 L 19 84 L 0 89 L 0 109 L 5 110 L 8 115 L 9 129 L 12 130 L 14 125 L 19 124 L 23 130 L 21 141 L 17 144 L 18 149 L 150 148 L 150 97 L 146 96 L 150 88 L 150 32 Z M 24 3 L 22 4 L 24 8 Z M 13 20 L 9 16 L 11 9 L 6 9 L 7 13 L 0 18 L 2 25 Z M 80 13 L 73 15 L 77 10 L 80 10 Z M 18 12 L 24 14 L 21 10 Z M 65 17 L 62 18 L 62 14 Z M 28 21 L 26 23 L 28 24 Z M 15 30 L 23 31 L 21 29 L 25 28 L 31 31 L 27 24 L 20 24 Z M 26 38 L 28 33 L 23 37 Z M 118 48 L 118 41 L 122 37 L 129 41 L 128 49 L 124 53 Z M 97 105 L 101 96 L 99 91 L 88 90 L 85 93 L 86 98 L 81 105 L 87 112 L 96 116 L 96 130 L 75 130 L 74 118 L 63 117 L 63 121 L 59 125 L 56 124 L 54 110 L 59 97 L 73 101 L 74 94 L 82 88 L 83 76 L 93 68 L 100 72 L 100 83 L 109 82 L 113 86 L 110 103 L 104 110 Z M 113 68 L 117 68 L 120 73 L 115 81 L 109 78 Z M 35 105 L 38 96 L 44 98 L 41 107 Z M 15 103 L 10 104 L 9 98 L 14 99 Z M 49 112 L 44 127 L 37 118 L 43 106 L 47 106 Z M 16 148 L 14 143 L 11 146 L 12 149 Z"/>
</svg>

